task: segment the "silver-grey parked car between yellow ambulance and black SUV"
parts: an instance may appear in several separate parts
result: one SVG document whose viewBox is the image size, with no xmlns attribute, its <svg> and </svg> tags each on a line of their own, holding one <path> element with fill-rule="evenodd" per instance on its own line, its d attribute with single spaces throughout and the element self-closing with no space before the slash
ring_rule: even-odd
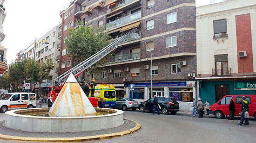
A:
<svg viewBox="0 0 256 143">
<path fill-rule="evenodd" d="M 129 98 L 116 98 L 115 107 L 122 110 L 132 109 L 135 111 L 138 108 L 139 103 L 134 99 Z"/>
</svg>

